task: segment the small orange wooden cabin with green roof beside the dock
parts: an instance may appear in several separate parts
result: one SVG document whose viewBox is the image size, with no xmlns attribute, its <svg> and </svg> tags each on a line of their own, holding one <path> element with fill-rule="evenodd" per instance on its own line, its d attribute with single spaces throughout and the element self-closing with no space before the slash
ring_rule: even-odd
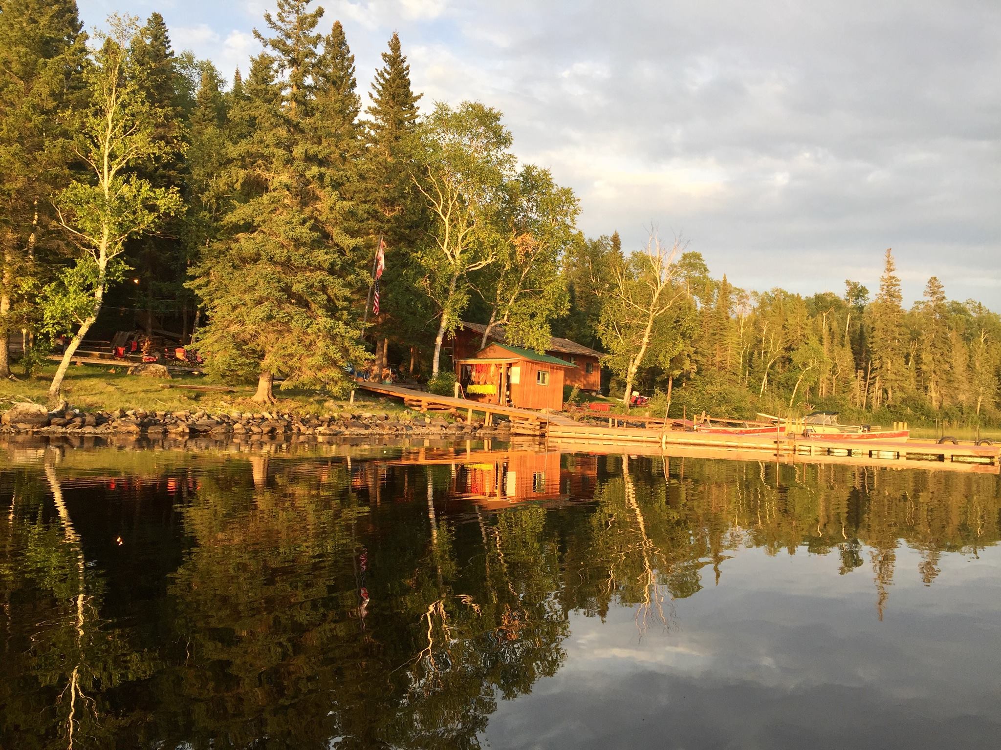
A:
<svg viewBox="0 0 1001 750">
<path fill-rule="evenodd" d="M 511 344 L 490 344 L 476 356 L 455 360 L 462 395 L 520 409 L 563 409 L 564 377 L 576 365 Z"/>
</svg>

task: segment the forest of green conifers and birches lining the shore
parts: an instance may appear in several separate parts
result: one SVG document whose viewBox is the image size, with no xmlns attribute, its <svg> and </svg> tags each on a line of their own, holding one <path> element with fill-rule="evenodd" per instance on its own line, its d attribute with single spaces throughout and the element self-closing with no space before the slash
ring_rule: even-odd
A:
<svg viewBox="0 0 1001 750">
<path fill-rule="evenodd" d="M 611 394 L 672 416 L 1001 419 L 1001 317 L 936 277 L 905 308 L 891 250 L 872 290 L 736 288 L 698 237 L 585 236 L 503 113 L 422 100 L 395 33 L 367 106 L 322 7 L 278 0 L 254 33 L 263 51 L 227 77 L 175 51 L 159 13 L 87 33 L 73 0 L 0 2 L 0 376 L 66 337 L 61 403 L 84 338 L 141 327 L 262 403 L 275 382 L 342 393 L 381 341 L 450 390 L 444 342 L 470 320 L 606 352 Z"/>
</svg>

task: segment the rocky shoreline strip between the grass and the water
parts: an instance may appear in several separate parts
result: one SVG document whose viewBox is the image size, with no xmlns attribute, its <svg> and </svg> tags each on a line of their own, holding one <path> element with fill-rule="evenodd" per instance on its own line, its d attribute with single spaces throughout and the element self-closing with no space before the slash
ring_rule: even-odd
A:
<svg viewBox="0 0 1001 750">
<path fill-rule="evenodd" d="M 484 426 L 473 419 L 452 420 L 414 412 L 410 419 L 392 419 L 385 413 L 351 412 L 329 416 L 299 416 L 272 412 L 204 411 L 49 412 L 38 404 L 16 404 L 0 416 L 0 434 L 34 435 L 146 435 L 149 437 L 211 436 L 281 438 L 305 436 L 384 437 L 500 437 L 511 432 L 508 422 Z"/>
</svg>

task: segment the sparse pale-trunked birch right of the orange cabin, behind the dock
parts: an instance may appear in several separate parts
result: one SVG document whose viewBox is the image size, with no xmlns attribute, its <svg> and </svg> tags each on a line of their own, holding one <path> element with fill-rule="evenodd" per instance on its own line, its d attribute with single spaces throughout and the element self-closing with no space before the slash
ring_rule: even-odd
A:
<svg viewBox="0 0 1001 750">
<path fill-rule="evenodd" d="M 675 283 L 675 259 L 682 249 L 680 240 L 666 245 L 652 232 L 644 250 L 612 271 L 599 335 L 609 350 L 609 367 L 626 381 L 623 403 L 627 406 L 637 373 L 648 356 L 655 353 L 651 342 L 657 326 L 666 321 L 676 303 L 687 297 L 684 285 Z"/>
</svg>

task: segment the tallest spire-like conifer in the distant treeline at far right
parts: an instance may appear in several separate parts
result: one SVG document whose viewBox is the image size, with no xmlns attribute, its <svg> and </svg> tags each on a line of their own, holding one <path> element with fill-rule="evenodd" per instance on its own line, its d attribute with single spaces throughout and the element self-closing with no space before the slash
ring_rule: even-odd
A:
<svg viewBox="0 0 1001 750">
<path fill-rule="evenodd" d="M 907 377 L 903 296 L 896 270 L 893 252 L 888 249 L 879 294 L 871 308 L 873 370 L 880 383 L 876 394 L 877 405 L 882 403 L 883 391 L 886 392 L 886 403 L 894 403 Z"/>
</svg>

